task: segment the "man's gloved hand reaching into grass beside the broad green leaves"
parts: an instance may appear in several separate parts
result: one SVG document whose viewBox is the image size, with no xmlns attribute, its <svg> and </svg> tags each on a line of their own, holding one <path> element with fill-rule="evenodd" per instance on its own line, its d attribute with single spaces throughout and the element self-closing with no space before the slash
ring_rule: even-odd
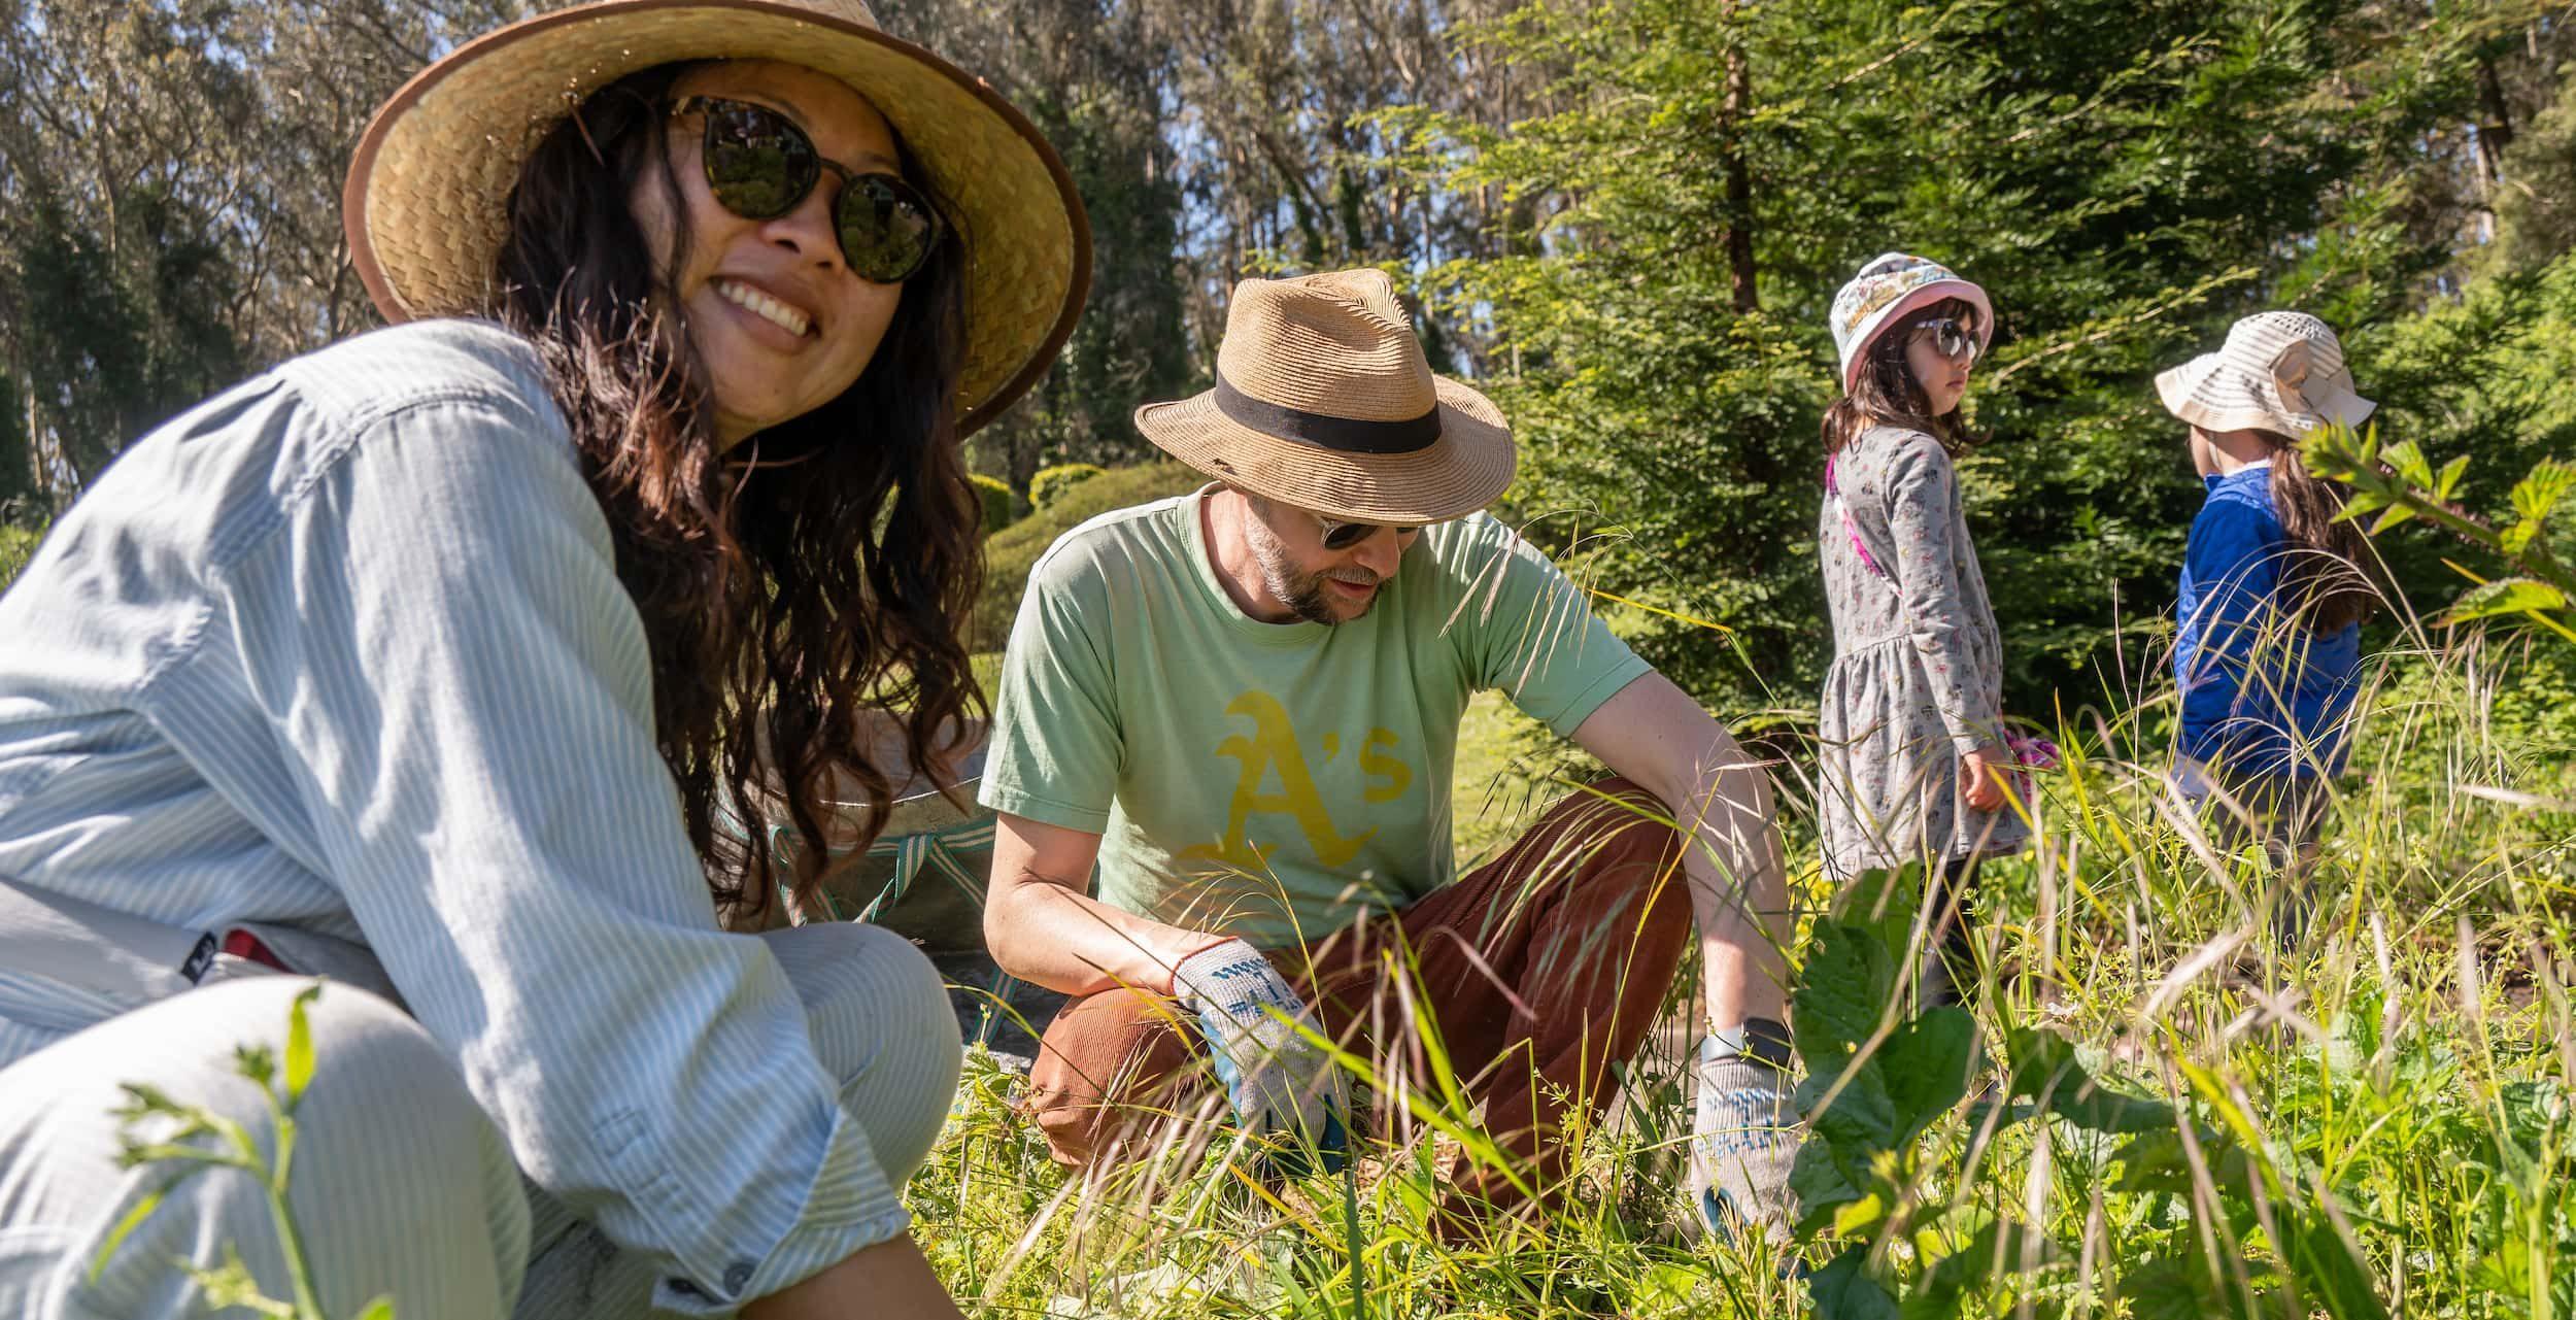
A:
<svg viewBox="0 0 2576 1320">
<path fill-rule="evenodd" d="M 1790 1243 L 1798 1219 L 1788 1173 L 1806 1124 L 1788 1070 L 1700 1042 L 1700 1098 L 1690 1124 L 1692 1212 L 1708 1232 L 1759 1232 Z"/>
</svg>

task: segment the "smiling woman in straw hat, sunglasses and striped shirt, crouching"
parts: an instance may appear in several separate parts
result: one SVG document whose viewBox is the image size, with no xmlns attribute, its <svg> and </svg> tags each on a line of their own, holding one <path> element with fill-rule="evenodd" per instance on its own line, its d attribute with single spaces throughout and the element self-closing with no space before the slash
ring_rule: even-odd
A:
<svg viewBox="0 0 2576 1320">
<path fill-rule="evenodd" d="M 814 874 L 711 820 L 971 704 L 956 441 L 1079 307 L 1064 168 L 858 0 L 608 0 L 404 85 L 348 237 L 404 325 L 137 441 L 0 598 L 0 1312 L 206 1315 L 237 1248 L 330 1315 L 953 1315 L 940 982 L 726 933 Z M 237 1044 L 299 1235 L 118 1168 L 129 1080 L 278 1150 Z"/>
</svg>

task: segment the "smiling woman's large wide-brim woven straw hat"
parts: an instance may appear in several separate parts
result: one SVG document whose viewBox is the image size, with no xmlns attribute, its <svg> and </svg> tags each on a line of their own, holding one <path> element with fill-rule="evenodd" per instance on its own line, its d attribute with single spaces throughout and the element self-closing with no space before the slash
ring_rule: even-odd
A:
<svg viewBox="0 0 2576 1320">
<path fill-rule="evenodd" d="M 860 0 L 598 0 L 479 36 L 394 93 L 348 168 L 343 224 L 392 322 L 487 315 L 505 201 L 590 93 L 657 64 L 778 59 L 868 98 L 966 248 L 958 431 L 1018 400 L 1090 286 L 1090 222 L 1038 129 L 979 77 L 886 36 Z"/>
</svg>

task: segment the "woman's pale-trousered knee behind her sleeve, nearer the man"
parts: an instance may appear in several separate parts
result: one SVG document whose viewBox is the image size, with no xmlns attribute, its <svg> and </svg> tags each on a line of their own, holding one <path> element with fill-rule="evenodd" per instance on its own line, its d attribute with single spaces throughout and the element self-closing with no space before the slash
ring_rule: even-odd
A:
<svg viewBox="0 0 2576 1320">
<path fill-rule="evenodd" d="M 948 985 L 912 941 L 829 923 L 760 936 L 778 954 L 824 1070 L 868 1127 L 889 1178 L 909 1178 L 948 1121 L 963 1044 Z"/>
</svg>

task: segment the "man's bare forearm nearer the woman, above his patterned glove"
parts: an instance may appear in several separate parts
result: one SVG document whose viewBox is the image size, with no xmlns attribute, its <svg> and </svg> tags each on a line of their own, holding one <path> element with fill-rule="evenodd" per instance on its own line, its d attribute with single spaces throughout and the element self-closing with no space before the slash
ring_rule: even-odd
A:
<svg viewBox="0 0 2576 1320">
<path fill-rule="evenodd" d="M 984 913 L 994 964 L 1064 995 L 1115 985 L 1167 995 L 1172 967 L 1224 938 L 1123 913 L 1038 877 L 997 884 Z"/>
</svg>

